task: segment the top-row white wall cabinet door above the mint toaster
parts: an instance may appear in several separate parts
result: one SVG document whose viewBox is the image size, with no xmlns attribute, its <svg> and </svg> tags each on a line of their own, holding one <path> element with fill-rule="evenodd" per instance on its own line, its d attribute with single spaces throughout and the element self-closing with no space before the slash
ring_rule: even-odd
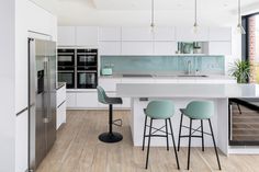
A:
<svg viewBox="0 0 259 172">
<path fill-rule="evenodd" d="M 122 38 L 121 27 L 100 27 L 100 42 L 120 42 Z"/>
</svg>

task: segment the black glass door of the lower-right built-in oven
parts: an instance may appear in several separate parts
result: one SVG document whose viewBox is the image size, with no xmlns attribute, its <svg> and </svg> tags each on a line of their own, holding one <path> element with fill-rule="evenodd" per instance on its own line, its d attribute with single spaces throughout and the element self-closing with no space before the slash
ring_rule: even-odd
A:
<svg viewBox="0 0 259 172">
<path fill-rule="evenodd" d="M 78 89 L 97 89 L 97 72 L 78 72 Z"/>
</svg>

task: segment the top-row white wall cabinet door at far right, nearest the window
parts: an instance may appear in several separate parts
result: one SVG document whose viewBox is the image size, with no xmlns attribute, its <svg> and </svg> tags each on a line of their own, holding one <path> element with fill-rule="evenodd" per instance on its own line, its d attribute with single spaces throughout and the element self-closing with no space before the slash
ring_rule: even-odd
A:
<svg viewBox="0 0 259 172">
<path fill-rule="evenodd" d="M 210 28 L 209 38 L 211 42 L 230 42 L 232 28 L 230 27 L 213 27 Z"/>
</svg>

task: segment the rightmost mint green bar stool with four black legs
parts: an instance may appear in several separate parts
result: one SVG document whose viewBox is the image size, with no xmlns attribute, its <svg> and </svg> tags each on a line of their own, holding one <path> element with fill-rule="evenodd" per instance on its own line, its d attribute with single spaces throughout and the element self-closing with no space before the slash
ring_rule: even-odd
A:
<svg viewBox="0 0 259 172">
<path fill-rule="evenodd" d="M 215 138 L 214 138 L 214 134 L 213 134 L 213 129 L 212 129 L 212 123 L 211 123 L 211 117 L 214 115 L 213 102 L 211 102 L 211 101 L 193 101 L 187 105 L 187 108 L 181 108 L 180 112 L 181 112 L 181 119 L 180 119 L 180 128 L 179 128 L 179 137 L 178 137 L 178 151 L 180 150 L 181 138 L 189 137 L 187 169 L 188 170 L 190 169 L 191 138 L 192 137 L 202 138 L 202 151 L 204 151 L 204 134 L 206 134 L 206 135 L 212 136 L 214 149 L 215 149 L 215 153 L 216 153 L 216 159 L 217 159 L 217 164 L 218 164 L 219 170 L 222 170 L 218 153 L 217 153 L 216 142 L 215 142 Z M 190 127 L 182 125 L 183 115 L 190 118 Z M 209 121 L 211 134 L 203 131 L 203 121 L 204 119 Z M 192 128 L 193 121 L 201 121 L 201 126 L 196 129 L 193 129 Z M 189 128 L 188 136 L 181 135 L 182 127 Z M 201 130 L 200 130 L 200 128 L 201 128 Z M 193 135 L 196 131 L 201 133 L 201 136 Z"/>
</svg>

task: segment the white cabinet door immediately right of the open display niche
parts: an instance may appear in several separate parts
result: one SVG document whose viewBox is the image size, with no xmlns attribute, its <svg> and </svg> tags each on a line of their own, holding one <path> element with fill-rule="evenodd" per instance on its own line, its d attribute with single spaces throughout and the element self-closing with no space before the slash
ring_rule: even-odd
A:
<svg viewBox="0 0 259 172">
<path fill-rule="evenodd" d="M 232 55 L 232 42 L 210 42 L 210 55 Z"/>
</svg>

